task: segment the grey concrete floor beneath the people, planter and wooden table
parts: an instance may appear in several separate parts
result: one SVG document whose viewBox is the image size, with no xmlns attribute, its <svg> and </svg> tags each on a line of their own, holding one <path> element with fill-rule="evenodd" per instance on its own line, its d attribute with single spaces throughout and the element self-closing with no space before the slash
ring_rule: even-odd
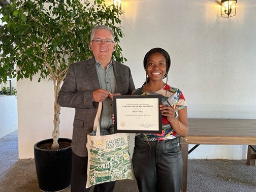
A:
<svg viewBox="0 0 256 192">
<path fill-rule="evenodd" d="M 34 159 L 18 160 L 17 131 L 0 138 L 0 191 L 39 192 Z M 256 168 L 246 160 L 188 160 L 188 192 L 255 192 Z M 62 190 L 70 192 L 70 188 Z M 90 190 L 92 191 L 92 189 Z M 114 192 L 138 192 L 135 180 L 116 182 Z"/>
</svg>

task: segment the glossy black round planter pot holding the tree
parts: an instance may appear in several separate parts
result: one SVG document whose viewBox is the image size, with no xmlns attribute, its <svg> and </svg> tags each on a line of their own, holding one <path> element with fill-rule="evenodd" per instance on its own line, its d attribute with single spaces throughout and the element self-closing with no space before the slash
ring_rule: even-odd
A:
<svg viewBox="0 0 256 192">
<path fill-rule="evenodd" d="M 39 188 L 43 191 L 61 191 L 71 183 L 72 149 L 71 139 L 59 138 L 58 143 L 70 144 L 66 148 L 42 149 L 51 145 L 53 139 L 40 141 L 34 145 L 34 156 Z"/>
</svg>

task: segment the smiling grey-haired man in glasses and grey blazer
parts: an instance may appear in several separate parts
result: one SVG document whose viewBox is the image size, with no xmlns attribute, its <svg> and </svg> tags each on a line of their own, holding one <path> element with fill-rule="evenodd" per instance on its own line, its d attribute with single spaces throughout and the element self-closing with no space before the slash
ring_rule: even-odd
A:
<svg viewBox="0 0 256 192">
<path fill-rule="evenodd" d="M 94 26 L 90 50 L 94 57 L 73 63 L 58 94 L 62 107 L 75 108 L 73 123 L 73 162 L 71 192 L 89 191 L 87 179 L 87 134 L 92 132 L 99 102 L 103 102 L 101 129 L 111 132 L 113 95 L 131 94 L 135 89 L 129 67 L 112 59 L 115 49 L 113 31 L 105 25 Z M 94 191 L 113 191 L 115 182 L 94 186 Z"/>
</svg>

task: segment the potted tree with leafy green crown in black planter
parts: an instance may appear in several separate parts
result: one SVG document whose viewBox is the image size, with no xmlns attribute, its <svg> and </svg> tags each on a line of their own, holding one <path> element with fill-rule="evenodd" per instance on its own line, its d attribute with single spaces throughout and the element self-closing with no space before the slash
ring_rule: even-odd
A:
<svg viewBox="0 0 256 192">
<path fill-rule="evenodd" d="M 38 82 L 41 79 L 53 82 L 53 138 L 36 143 L 34 154 L 40 189 L 59 191 L 70 185 L 72 160 L 68 144 L 71 139 L 59 138 L 60 106 L 57 96 L 60 84 L 71 63 L 92 56 L 88 44 L 90 30 L 95 24 L 106 24 L 112 28 L 117 43 L 113 56 L 120 62 L 126 60 L 118 45 L 123 36 L 119 19 L 123 13 L 113 5 L 106 6 L 104 0 L 84 0 L 82 3 L 80 0 L 9 2 L 1 4 L 4 6 L 0 9 L 0 83 L 6 82 L 7 77 L 33 80 L 38 74 Z M 66 151 L 63 152 L 66 156 L 58 158 L 62 151 Z M 61 160 L 64 163 L 60 163 Z"/>
</svg>

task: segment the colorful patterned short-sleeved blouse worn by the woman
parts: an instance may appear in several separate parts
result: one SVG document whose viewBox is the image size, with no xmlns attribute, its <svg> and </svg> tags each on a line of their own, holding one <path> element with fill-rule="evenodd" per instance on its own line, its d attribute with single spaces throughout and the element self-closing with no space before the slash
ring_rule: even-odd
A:
<svg viewBox="0 0 256 192">
<path fill-rule="evenodd" d="M 166 84 L 162 89 L 155 92 L 144 91 L 141 87 L 134 90 L 133 94 L 139 94 L 139 95 L 161 94 L 162 103 L 165 105 L 168 105 L 168 106 L 171 105 L 172 107 L 174 107 L 176 118 L 178 118 L 179 116 L 178 110 L 183 109 L 184 107 L 187 106 L 181 90 L 178 88 L 170 87 L 168 84 Z M 162 128 L 163 128 L 162 134 L 137 134 L 137 136 L 141 137 L 142 140 L 144 141 L 168 140 L 168 139 L 174 139 L 178 137 L 178 135 L 172 129 L 171 124 L 169 123 L 169 121 L 165 116 L 162 116 Z"/>
</svg>

